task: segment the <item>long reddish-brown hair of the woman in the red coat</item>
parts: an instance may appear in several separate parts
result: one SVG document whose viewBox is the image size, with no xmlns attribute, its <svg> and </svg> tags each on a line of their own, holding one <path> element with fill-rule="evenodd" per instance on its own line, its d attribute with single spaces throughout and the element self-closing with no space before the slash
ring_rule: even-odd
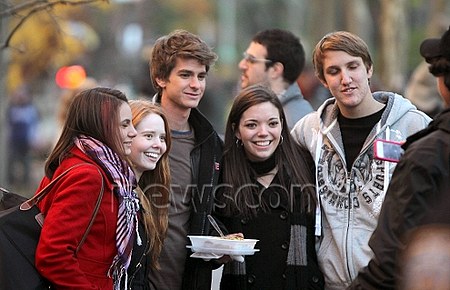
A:
<svg viewBox="0 0 450 290">
<path fill-rule="evenodd" d="M 119 109 L 128 99 L 119 90 L 93 88 L 77 94 L 69 105 L 67 118 L 55 148 L 45 162 L 45 175 L 52 178 L 73 146 L 74 138 L 87 135 L 123 156 L 119 131 Z"/>
</svg>

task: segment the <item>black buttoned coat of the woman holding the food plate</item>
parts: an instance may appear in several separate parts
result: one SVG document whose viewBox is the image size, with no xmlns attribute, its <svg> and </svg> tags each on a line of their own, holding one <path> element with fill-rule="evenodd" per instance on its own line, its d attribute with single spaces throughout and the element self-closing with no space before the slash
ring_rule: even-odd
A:
<svg viewBox="0 0 450 290">
<path fill-rule="evenodd" d="M 269 210 L 258 210 L 257 217 L 254 218 L 221 216 L 218 210 L 218 217 L 228 232 L 242 232 L 245 238 L 259 240 L 255 246 L 259 251 L 254 255 L 245 256 L 246 276 L 242 277 L 224 270 L 220 287 L 223 290 L 294 290 L 287 286 L 286 261 L 293 218 L 289 197 L 286 191 L 280 190 L 278 174 L 267 189 L 258 182 L 255 184 L 259 186 L 255 194 L 260 194 L 261 200 L 270 205 Z M 219 195 L 219 202 L 220 198 Z M 306 265 L 301 266 L 295 275 L 295 289 L 323 289 L 323 275 L 319 270 L 315 251 L 314 216 L 302 213 L 298 217 L 298 226 L 306 230 L 306 245 L 300 245 L 301 241 L 298 241 L 299 245 L 296 247 L 304 254 L 302 257 L 306 260 Z"/>
</svg>

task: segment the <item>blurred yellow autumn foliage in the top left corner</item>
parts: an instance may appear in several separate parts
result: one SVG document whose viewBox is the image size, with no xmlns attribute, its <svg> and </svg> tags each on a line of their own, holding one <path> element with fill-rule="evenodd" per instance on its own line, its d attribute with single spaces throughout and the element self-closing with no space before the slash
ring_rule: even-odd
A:
<svg viewBox="0 0 450 290">
<path fill-rule="evenodd" d="M 36 0 L 7 4 L 0 12 L 2 18 L 9 20 L 9 29 L 0 47 L 10 49 L 7 92 L 45 75 L 49 68 L 70 63 L 90 46 L 95 46 L 95 33 L 88 26 L 68 21 L 68 15 L 80 9 L 75 6 L 94 2 L 106 0 Z"/>
</svg>

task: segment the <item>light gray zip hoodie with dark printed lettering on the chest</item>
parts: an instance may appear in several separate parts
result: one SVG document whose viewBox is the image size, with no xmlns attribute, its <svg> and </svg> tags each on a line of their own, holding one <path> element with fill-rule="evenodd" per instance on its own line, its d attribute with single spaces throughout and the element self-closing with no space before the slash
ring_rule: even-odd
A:
<svg viewBox="0 0 450 290">
<path fill-rule="evenodd" d="M 369 238 L 377 225 L 395 167 L 395 163 L 374 159 L 374 141 L 377 138 L 405 141 L 431 121 L 400 95 L 376 92 L 373 97 L 386 104 L 386 108 L 350 172 L 334 98 L 302 118 L 291 132 L 298 143 L 309 149 L 316 164 L 321 207 L 316 215 L 316 235 L 321 235 L 317 256 L 325 289 L 345 289 L 372 257 Z"/>
</svg>

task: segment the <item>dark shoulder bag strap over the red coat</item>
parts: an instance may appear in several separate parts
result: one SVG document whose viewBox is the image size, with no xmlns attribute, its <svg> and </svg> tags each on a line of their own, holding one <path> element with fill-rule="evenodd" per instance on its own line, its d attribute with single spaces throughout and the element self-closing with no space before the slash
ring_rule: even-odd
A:
<svg viewBox="0 0 450 290">
<path fill-rule="evenodd" d="M 76 164 L 71 166 L 70 168 L 66 169 L 63 173 L 61 173 L 60 175 L 58 175 L 55 179 L 53 179 L 49 184 L 47 184 L 43 189 L 41 189 L 37 194 L 35 194 L 32 198 L 24 201 L 21 205 L 20 205 L 20 210 L 29 210 L 31 207 L 33 207 L 34 205 L 36 205 L 39 201 L 41 201 L 45 195 L 47 195 L 47 193 L 50 192 L 50 190 L 52 189 L 53 185 L 55 185 L 55 183 L 60 180 L 62 177 L 64 177 L 67 173 L 69 173 L 70 170 L 78 167 L 78 166 L 82 166 L 82 165 L 92 165 L 90 163 L 80 163 L 80 164 Z M 92 165 L 94 166 L 94 165 Z M 97 213 L 100 209 L 100 204 L 102 202 L 102 198 L 103 198 L 103 193 L 105 191 L 105 180 L 103 178 L 103 174 L 100 172 L 100 170 L 95 167 L 95 169 L 97 169 L 98 174 L 100 174 L 100 176 L 102 177 L 102 187 L 100 189 L 100 192 L 98 194 L 98 198 L 97 198 L 97 202 L 95 203 L 95 208 L 94 211 L 92 212 L 92 216 L 91 219 L 89 221 L 89 224 L 86 228 L 86 230 L 84 231 L 83 237 L 81 238 L 80 242 L 78 243 L 78 246 L 75 250 L 74 256 L 76 256 L 78 254 L 78 251 L 81 249 L 81 246 L 84 244 L 87 235 L 89 234 L 89 231 L 92 228 L 92 225 L 94 224 L 94 220 L 95 217 L 97 216 Z"/>
</svg>

